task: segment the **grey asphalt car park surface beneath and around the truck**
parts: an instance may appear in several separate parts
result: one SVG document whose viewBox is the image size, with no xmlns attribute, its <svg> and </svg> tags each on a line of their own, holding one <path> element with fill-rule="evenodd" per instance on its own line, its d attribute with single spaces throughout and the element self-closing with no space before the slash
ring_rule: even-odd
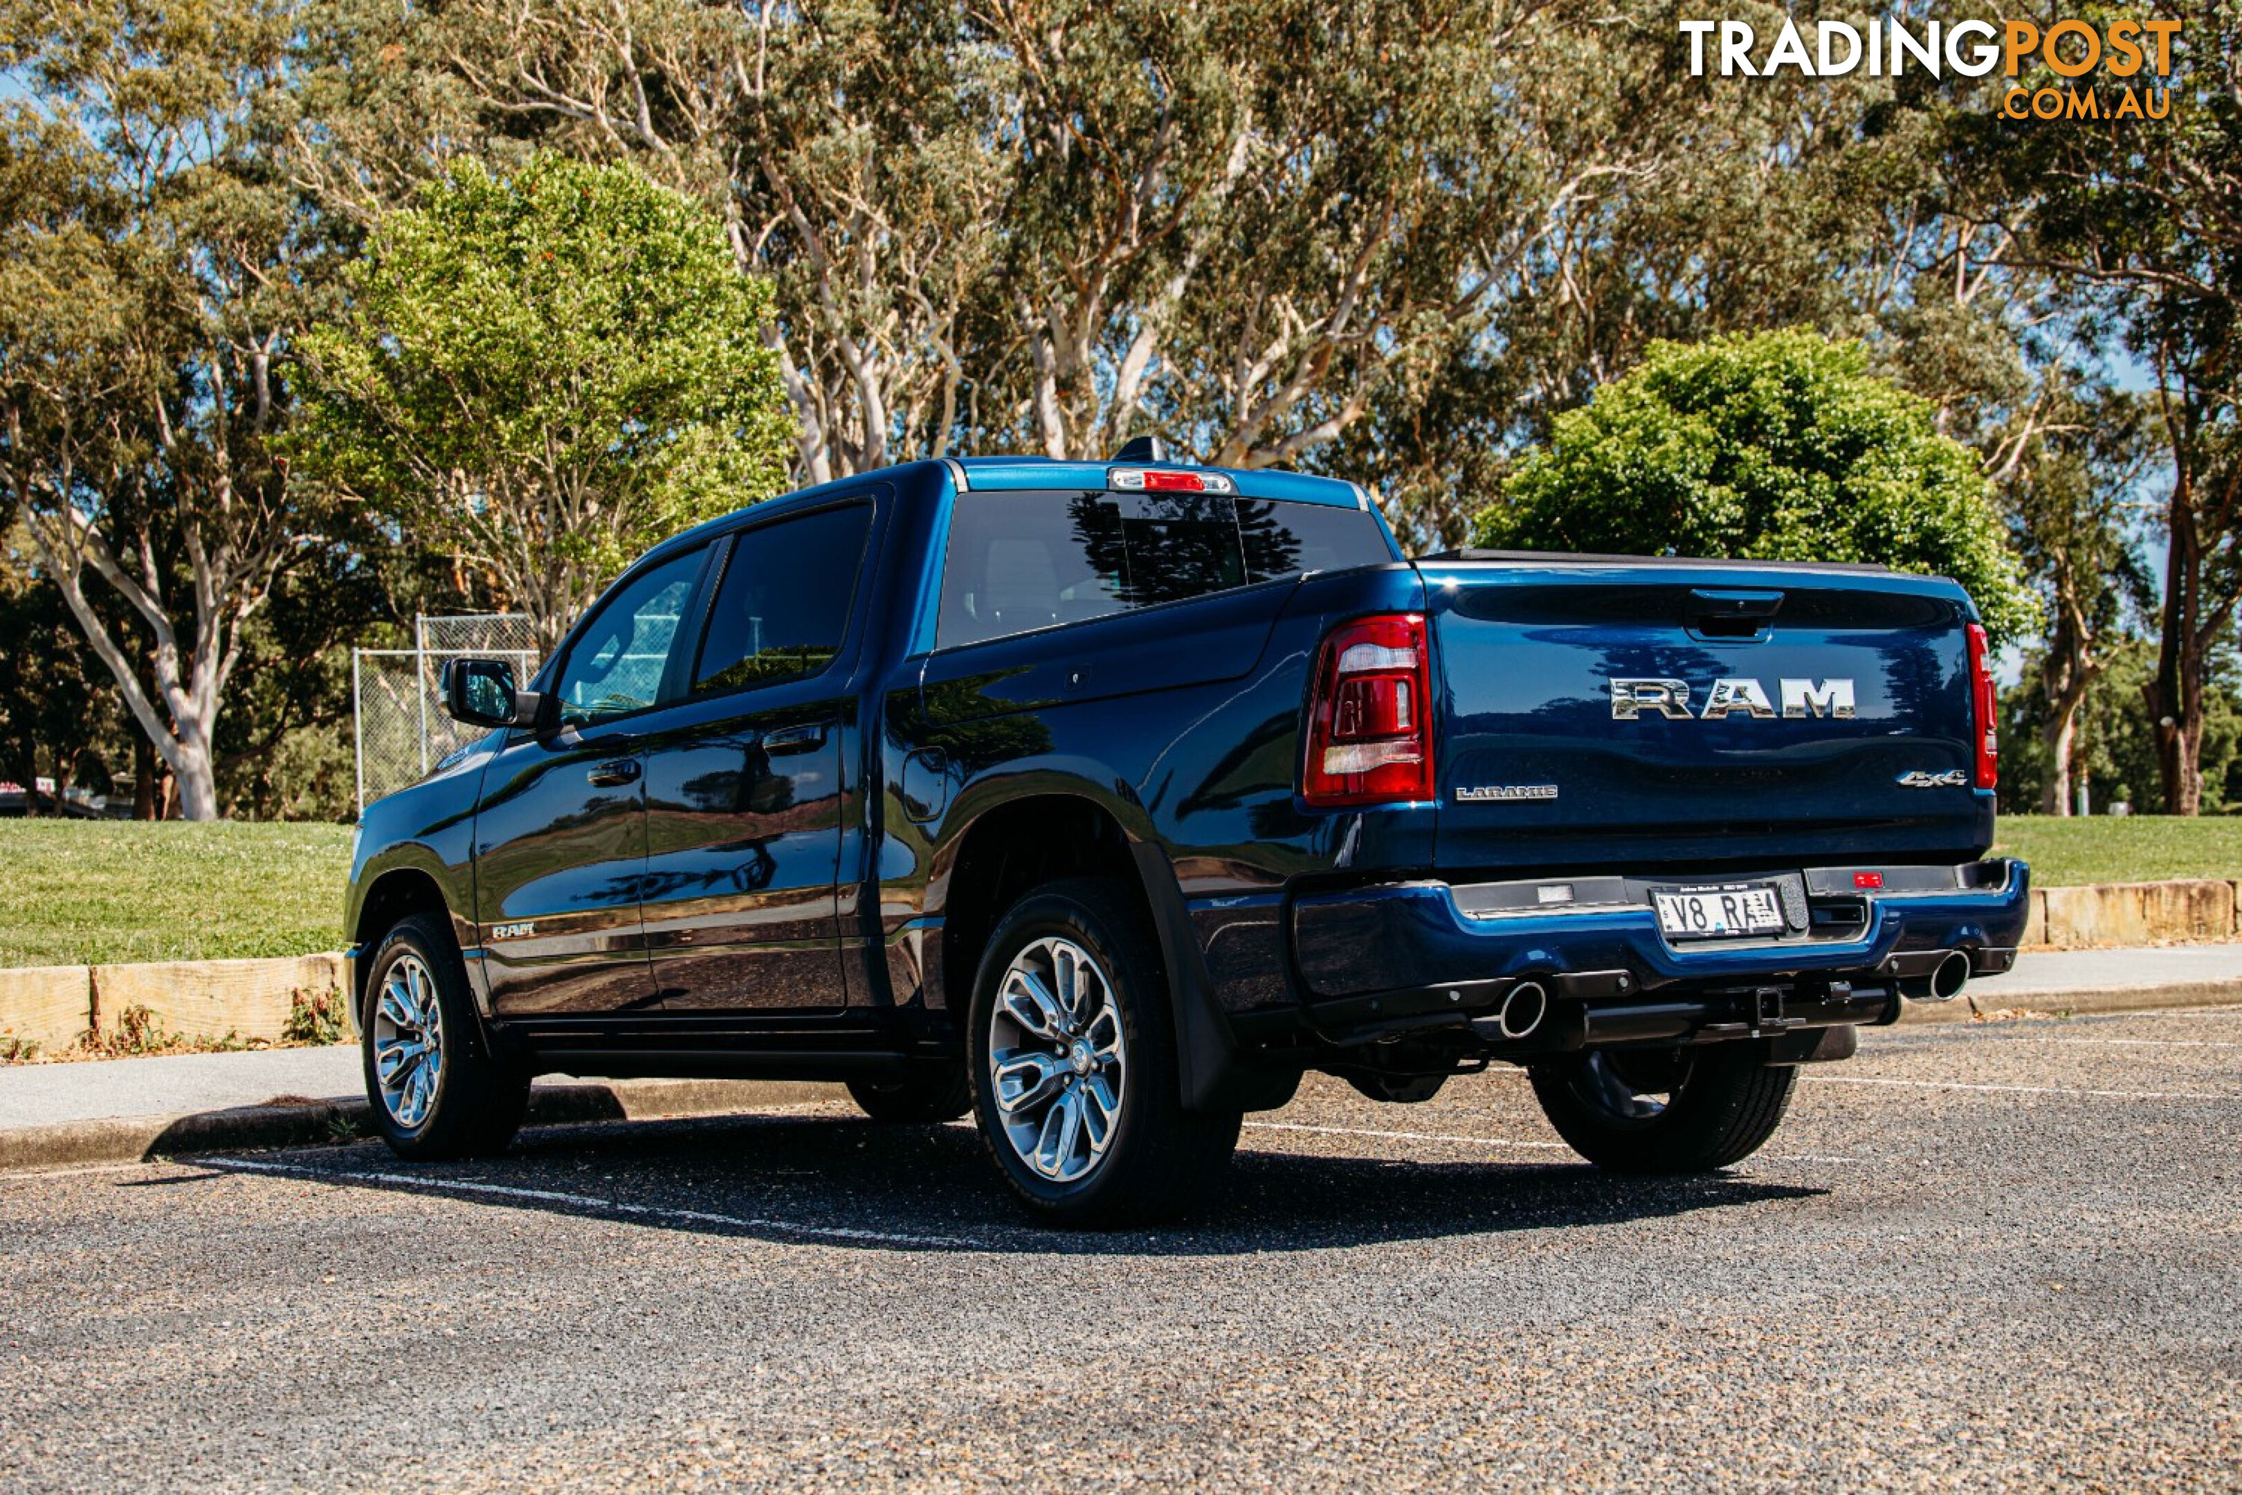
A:
<svg viewBox="0 0 2242 1495">
<path fill-rule="evenodd" d="M 1312 1083 L 1025 1228 L 839 1109 L 0 1177 L 0 1488 L 2242 1484 L 2242 1011 L 1874 1033 L 1722 1177 Z"/>
</svg>

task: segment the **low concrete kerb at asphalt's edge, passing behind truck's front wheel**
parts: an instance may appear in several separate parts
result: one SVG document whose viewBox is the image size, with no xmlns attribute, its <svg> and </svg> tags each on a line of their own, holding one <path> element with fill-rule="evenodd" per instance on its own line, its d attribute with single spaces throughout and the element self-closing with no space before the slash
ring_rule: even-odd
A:
<svg viewBox="0 0 2242 1495">
<path fill-rule="evenodd" d="M 773 1105 L 845 1096 L 839 1085 L 798 1080 L 610 1080 L 540 1085 L 529 1092 L 527 1125 L 731 1116 Z M 0 1172 L 137 1163 L 238 1148 L 316 1148 L 372 1134 L 365 1101 L 238 1105 L 186 1116 L 103 1116 L 0 1130 Z"/>
</svg>

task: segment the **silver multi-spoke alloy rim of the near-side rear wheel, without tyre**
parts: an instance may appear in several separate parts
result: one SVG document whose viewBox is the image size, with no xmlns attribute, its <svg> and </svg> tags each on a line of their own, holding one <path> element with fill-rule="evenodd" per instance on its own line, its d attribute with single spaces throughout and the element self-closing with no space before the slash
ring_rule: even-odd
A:
<svg viewBox="0 0 2242 1495">
<path fill-rule="evenodd" d="M 1087 1177 L 1128 1103 L 1128 1044 L 1112 979 L 1072 939 L 1011 957 L 989 1015 L 989 1085 L 1004 1141 L 1051 1183 Z"/>
</svg>

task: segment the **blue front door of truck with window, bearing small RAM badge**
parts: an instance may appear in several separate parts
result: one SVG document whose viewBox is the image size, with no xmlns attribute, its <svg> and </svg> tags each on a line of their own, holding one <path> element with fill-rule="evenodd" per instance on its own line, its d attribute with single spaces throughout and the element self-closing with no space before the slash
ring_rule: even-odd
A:
<svg viewBox="0 0 2242 1495">
<path fill-rule="evenodd" d="M 601 598 L 554 675 L 558 731 L 513 733 L 482 776 L 475 921 L 500 1015 L 655 1002 L 641 733 L 706 560 L 706 547 L 664 558 Z"/>
</svg>

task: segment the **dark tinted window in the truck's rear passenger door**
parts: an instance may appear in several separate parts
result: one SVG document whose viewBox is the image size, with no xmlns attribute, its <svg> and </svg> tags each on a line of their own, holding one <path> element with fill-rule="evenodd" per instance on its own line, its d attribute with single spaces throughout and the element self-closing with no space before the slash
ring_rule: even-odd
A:
<svg viewBox="0 0 2242 1495">
<path fill-rule="evenodd" d="M 724 563 L 693 695 L 805 679 L 847 634 L 872 509 L 850 504 L 749 529 Z"/>
</svg>

